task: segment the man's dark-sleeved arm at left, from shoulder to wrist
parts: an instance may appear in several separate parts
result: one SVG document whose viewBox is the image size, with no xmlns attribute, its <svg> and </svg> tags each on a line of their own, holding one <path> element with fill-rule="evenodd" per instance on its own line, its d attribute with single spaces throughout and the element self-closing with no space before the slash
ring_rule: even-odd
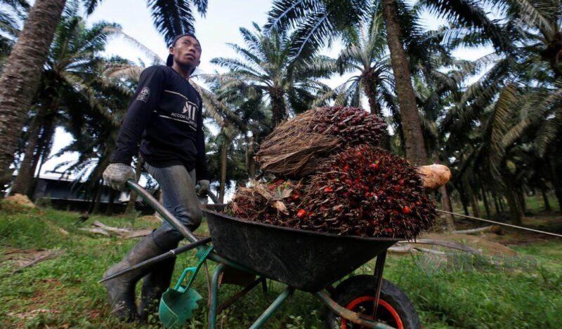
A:
<svg viewBox="0 0 562 329">
<path fill-rule="evenodd" d="M 164 80 L 165 72 L 162 67 L 148 67 L 141 74 L 136 93 L 129 103 L 129 109 L 117 135 L 111 163 L 131 164 L 133 156 L 138 153 L 138 142 L 141 141 L 152 111 L 157 108 Z"/>
</svg>

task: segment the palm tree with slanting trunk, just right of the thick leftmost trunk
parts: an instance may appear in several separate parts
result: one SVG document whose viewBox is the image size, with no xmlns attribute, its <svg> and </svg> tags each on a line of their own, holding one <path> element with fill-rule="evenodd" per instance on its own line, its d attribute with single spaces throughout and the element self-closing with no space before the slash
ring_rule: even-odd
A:
<svg viewBox="0 0 562 329">
<path fill-rule="evenodd" d="M 37 113 L 27 131 L 28 140 L 25 156 L 18 168 L 11 193 L 30 194 L 37 161 L 42 155 L 48 156 L 47 145 L 51 144 L 57 121 L 67 119 L 65 112 L 76 111 L 65 104 L 69 94 L 76 90 L 90 100 L 100 112 L 105 112 L 98 99 L 92 97 L 95 90 L 91 82 L 98 79 L 97 67 L 102 59 L 99 54 L 105 49 L 108 23 L 98 23 L 86 28 L 84 20 L 77 15 L 77 6 L 67 6 L 60 21 L 41 76 L 41 90 L 37 95 Z M 64 89 L 72 89 L 63 92 Z M 43 133 L 41 132 L 50 132 Z M 41 137 L 41 139 L 39 139 Z M 37 147 L 38 143 L 41 147 Z M 37 152 L 36 152 L 37 149 Z"/>
</svg>

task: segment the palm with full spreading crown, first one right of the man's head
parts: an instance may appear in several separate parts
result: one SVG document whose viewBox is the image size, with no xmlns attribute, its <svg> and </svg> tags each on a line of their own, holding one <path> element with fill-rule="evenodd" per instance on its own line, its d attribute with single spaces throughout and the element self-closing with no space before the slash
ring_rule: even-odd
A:
<svg viewBox="0 0 562 329">
<path fill-rule="evenodd" d="M 218 76 L 224 88 L 239 88 L 250 98 L 254 95 L 268 98 L 275 127 L 289 112 L 308 109 L 318 90 L 327 90 L 316 78 L 328 77 L 330 69 L 322 67 L 321 59 L 301 56 L 293 60 L 294 36 L 284 32 L 265 35 L 255 23 L 254 29 L 255 32 L 250 32 L 240 28 L 247 48 L 230 44 L 243 60 L 214 58 L 211 62 L 230 69 Z"/>
</svg>

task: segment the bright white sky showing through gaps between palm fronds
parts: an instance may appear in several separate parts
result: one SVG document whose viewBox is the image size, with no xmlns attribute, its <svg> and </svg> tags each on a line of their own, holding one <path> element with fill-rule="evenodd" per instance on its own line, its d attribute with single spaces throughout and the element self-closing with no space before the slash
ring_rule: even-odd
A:
<svg viewBox="0 0 562 329">
<path fill-rule="evenodd" d="M 235 52 L 226 43 L 243 44 L 239 31 L 240 27 L 252 29 L 251 22 L 256 22 L 260 26 L 265 24 L 270 6 L 271 1 L 266 0 L 209 0 L 207 14 L 204 18 L 195 13 L 195 34 L 202 46 L 200 72 L 213 73 L 219 69 L 210 63 L 212 58 L 235 57 Z M 86 19 L 89 25 L 102 20 L 117 22 L 121 25 L 124 33 L 143 43 L 143 45 L 157 53 L 162 60 L 165 60 L 168 54 L 164 38 L 154 27 L 145 1 L 101 1 L 96 11 Z M 436 19 L 432 15 L 427 14 L 422 18 L 422 25 L 426 27 L 436 28 L 440 24 L 443 24 L 443 21 Z M 336 57 L 340 48 L 339 43 L 335 43 L 332 48 L 323 50 L 322 54 Z M 491 50 L 486 48 L 459 49 L 454 54 L 459 58 L 474 60 L 490 52 Z M 122 58 L 135 62 L 142 60 L 145 62 L 145 65 L 150 65 L 151 63 L 150 58 L 122 37 L 112 37 L 103 55 L 119 55 Z M 325 83 L 334 88 L 346 81 L 347 78 L 348 76 L 334 76 L 334 78 L 325 81 Z M 70 134 L 65 133 L 62 128 L 57 128 L 52 154 L 68 145 L 71 141 L 72 136 Z M 65 154 L 60 159 L 48 160 L 41 170 L 41 175 L 53 175 L 49 175 L 48 172 L 53 170 L 58 163 L 72 159 L 77 159 L 77 156 L 75 154 Z"/>
</svg>

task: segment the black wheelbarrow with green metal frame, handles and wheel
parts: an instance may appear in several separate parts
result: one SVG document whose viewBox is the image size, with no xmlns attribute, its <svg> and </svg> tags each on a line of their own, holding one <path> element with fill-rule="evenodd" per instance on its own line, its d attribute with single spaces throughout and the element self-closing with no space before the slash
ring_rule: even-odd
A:
<svg viewBox="0 0 562 329">
<path fill-rule="evenodd" d="M 128 185 L 190 241 L 188 246 L 171 250 L 155 259 L 137 264 L 134 268 L 153 264 L 166 257 L 175 257 L 192 248 L 198 249 L 197 257 L 200 262 L 197 267 L 185 269 L 180 282 L 164 293 L 160 302 L 161 321 L 163 317 L 174 320 L 164 323 L 168 327 L 181 326 L 188 317 L 185 314 L 190 313 L 193 308 L 191 305 L 189 310 L 183 310 L 182 307 L 186 307 L 185 300 L 176 303 L 176 296 L 185 293 L 190 296 L 187 299 L 191 298 L 191 302 L 201 298 L 190 289 L 190 283 L 201 264 L 212 260 L 218 266 L 210 283 L 211 329 L 216 328 L 217 315 L 235 300 L 259 286 L 259 283 L 266 288 L 266 278 L 284 283 L 287 287 L 250 328 L 260 328 L 266 323 L 294 290 L 313 293 L 328 307 L 328 328 L 421 328 L 419 316 L 405 293 L 382 278 L 386 250 L 400 239 L 339 236 L 276 227 L 230 217 L 217 211 L 222 210 L 224 205 L 209 205 L 203 212 L 211 233 L 211 246 L 209 239 L 202 241 L 197 238 L 136 182 L 129 181 Z M 373 275 L 351 276 L 341 281 L 374 257 L 377 257 L 377 261 Z M 218 306 L 219 281 L 223 272 L 229 268 L 254 275 L 257 279 Z M 181 283 L 187 274 L 191 274 L 190 282 L 183 286 Z M 338 284 L 334 286 L 335 283 Z"/>
</svg>

